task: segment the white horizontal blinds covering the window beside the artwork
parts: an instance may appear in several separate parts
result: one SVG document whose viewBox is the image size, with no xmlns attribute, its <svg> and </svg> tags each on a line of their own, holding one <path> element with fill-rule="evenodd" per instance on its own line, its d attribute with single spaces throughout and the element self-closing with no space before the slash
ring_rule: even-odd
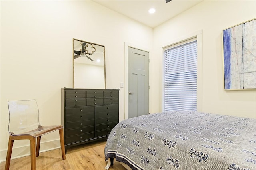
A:
<svg viewBox="0 0 256 170">
<path fill-rule="evenodd" d="M 164 49 L 164 110 L 196 111 L 197 41 Z"/>
</svg>

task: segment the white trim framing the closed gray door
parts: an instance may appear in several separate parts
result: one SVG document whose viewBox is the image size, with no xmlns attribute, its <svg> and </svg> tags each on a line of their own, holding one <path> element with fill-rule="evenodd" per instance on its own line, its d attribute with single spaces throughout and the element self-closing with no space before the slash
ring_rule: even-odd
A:
<svg viewBox="0 0 256 170">
<path fill-rule="evenodd" d="M 129 42 L 124 42 L 124 119 L 128 119 L 128 47 L 146 51 L 148 52 L 148 58 L 150 58 L 150 52 L 148 48 L 142 47 L 141 45 L 135 45 Z"/>
</svg>

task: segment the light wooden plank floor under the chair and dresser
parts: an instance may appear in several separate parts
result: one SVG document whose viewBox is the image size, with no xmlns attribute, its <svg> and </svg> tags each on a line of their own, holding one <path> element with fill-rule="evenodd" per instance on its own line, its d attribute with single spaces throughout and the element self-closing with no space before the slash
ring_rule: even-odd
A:
<svg viewBox="0 0 256 170">
<path fill-rule="evenodd" d="M 105 170 L 105 141 L 92 142 L 69 148 L 66 160 L 62 160 L 61 150 L 42 152 L 36 157 L 36 170 Z M 1 162 L 0 170 L 4 170 Z M 10 170 L 30 170 L 30 156 L 11 160 Z M 114 159 L 109 170 L 126 170 Z"/>
</svg>

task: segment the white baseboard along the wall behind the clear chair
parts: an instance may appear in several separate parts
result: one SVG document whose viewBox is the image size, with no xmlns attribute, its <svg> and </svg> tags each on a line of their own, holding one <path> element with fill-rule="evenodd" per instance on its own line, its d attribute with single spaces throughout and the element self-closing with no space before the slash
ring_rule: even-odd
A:
<svg viewBox="0 0 256 170">
<path fill-rule="evenodd" d="M 16 141 L 17 140 L 14 140 L 14 146 L 15 146 Z M 58 149 L 58 148 L 60 148 L 60 140 L 59 139 L 41 142 L 39 153 L 46 152 L 49 150 Z M 6 161 L 6 154 L 7 154 L 7 148 L 6 148 L 6 150 L 0 151 L 0 162 Z M 29 155 L 30 155 L 30 145 L 20 146 L 20 147 L 16 147 L 16 148 L 13 147 L 11 159 L 21 158 L 21 157 L 29 156 Z"/>
</svg>

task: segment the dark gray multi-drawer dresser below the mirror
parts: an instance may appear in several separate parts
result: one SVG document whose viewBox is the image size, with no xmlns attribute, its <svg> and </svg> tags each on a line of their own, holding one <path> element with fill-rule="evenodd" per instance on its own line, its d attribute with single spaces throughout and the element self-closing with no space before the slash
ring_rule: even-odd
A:
<svg viewBox="0 0 256 170">
<path fill-rule="evenodd" d="M 119 122 L 119 89 L 61 89 L 65 150 L 107 138 Z"/>
</svg>

